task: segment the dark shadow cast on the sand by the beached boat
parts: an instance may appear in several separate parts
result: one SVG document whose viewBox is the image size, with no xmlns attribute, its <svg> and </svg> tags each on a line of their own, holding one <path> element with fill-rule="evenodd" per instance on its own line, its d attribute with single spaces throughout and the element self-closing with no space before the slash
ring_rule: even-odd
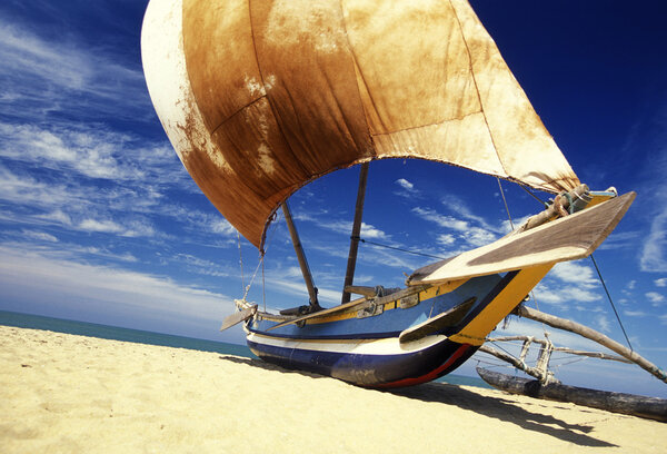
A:
<svg viewBox="0 0 667 454">
<path fill-rule="evenodd" d="M 311 378 L 329 378 L 319 374 L 286 369 L 275 364 L 266 363 L 261 359 L 245 358 L 239 356 L 220 356 L 220 359 L 237 364 L 245 364 L 266 371 L 300 374 Z M 498 395 L 497 397 L 487 397 L 462 387 L 446 383 L 427 383 L 424 385 L 391 389 L 387 391 L 386 393 L 422 402 L 455 405 L 459 408 L 469 409 L 480 415 L 512 423 L 526 431 L 539 432 L 541 434 L 550 435 L 555 438 L 559 438 L 578 446 L 617 447 L 615 444 L 586 435 L 594 430 L 593 426 L 585 424 L 569 424 L 566 421 L 554 416 L 545 415 L 538 412 L 531 412 L 510 399 L 502 398 L 502 395 Z M 539 406 L 539 401 L 536 402 L 538 402 L 536 405 Z M 588 409 L 586 407 L 577 407 L 577 411 L 600 415 L 599 412 L 595 409 Z"/>
</svg>

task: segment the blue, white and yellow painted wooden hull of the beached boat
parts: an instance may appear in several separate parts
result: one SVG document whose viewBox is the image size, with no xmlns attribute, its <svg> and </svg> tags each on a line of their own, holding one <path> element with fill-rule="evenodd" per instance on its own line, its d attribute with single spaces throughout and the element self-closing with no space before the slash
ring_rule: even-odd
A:
<svg viewBox="0 0 667 454">
<path fill-rule="evenodd" d="M 302 323 L 258 313 L 245 325 L 248 346 L 267 362 L 359 386 L 426 383 L 472 356 L 549 268 L 446 283 L 419 292 L 411 304 L 388 296 Z"/>
</svg>

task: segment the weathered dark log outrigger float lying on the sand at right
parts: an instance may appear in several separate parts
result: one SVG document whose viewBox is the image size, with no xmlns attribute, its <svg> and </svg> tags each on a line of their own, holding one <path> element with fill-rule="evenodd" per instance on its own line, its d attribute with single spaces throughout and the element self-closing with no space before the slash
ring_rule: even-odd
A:
<svg viewBox="0 0 667 454">
<path fill-rule="evenodd" d="M 477 373 L 486 383 L 507 393 L 548 401 L 570 402 L 607 412 L 667 422 L 667 399 L 664 398 L 588 389 L 560 383 L 542 384 L 537 379 L 514 377 L 481 367 L 477 367 Z"/>
</svg>

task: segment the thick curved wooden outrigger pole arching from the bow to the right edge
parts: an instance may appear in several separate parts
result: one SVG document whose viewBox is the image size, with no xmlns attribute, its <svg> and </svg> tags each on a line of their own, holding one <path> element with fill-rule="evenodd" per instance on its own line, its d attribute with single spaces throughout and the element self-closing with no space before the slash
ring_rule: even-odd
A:
<svg viewBox="0 0 667 454">
<path fill-rule="evenodd" d="M 659 378 L 660 381 L 667 383 L 667 374 L 665 373 L 665 371 L 661 371 L 658 366 L 644 358 L 641 355 L 637 354 L 637 352 L 633 352 L 631 349 L 625 347 L 624 345 L 617 343 L 614 339 L 610 339 L 604 334 L 598 333 L 593 328 L 589 328 L 588 326 L 584 326 L 581 324 L 565 318 L 556 317 L 550 314 L 545 314 L 542 312 L 531 309 L 525 306 L 518 306 L 515 309 L 514 314 L 518 315 L 519 317 L 541 322 L 554 328 L 565 329 L 570 333 L 578 334 L 579 336 L 584 336 L 590 340 L 597 342 L 598 344 L 637 364 L 639 367 L 654 375 L 655 377 Z"/>
</svg>

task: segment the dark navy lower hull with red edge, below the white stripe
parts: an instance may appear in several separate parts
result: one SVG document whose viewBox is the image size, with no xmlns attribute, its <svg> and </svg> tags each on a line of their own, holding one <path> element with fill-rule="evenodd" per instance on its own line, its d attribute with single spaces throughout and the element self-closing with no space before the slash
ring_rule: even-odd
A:
<svg viewBox="0 0 667 454">
<path fill-rule="evenodd" d="M 398 343 L 398 340 L 396 340 Z M 418 352 L 358 354 L 267 345 L 248 339 L 257 356 L 290 369 L 328 375 L 358 386 L 390 388 L 418 385 L 446 375 L 478 347 L 442 338 Z"/>
</svg>

